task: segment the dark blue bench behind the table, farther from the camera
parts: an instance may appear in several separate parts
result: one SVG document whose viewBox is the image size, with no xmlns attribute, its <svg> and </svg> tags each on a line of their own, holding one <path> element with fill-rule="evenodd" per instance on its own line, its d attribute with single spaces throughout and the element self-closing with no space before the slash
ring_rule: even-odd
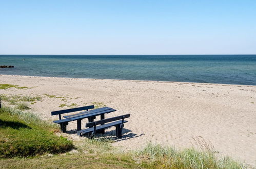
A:
<svg viewBox="0 0 256 169">
<path fill-rule="evenodd" d="M 53 111 L 51 112 L 51 115 L 58 115 L 59 120 L 54 120 L 54 123 L 60 124 L 61 125 L 61 130 L 65 133 L 67 132 L 67 125 L 69 121 L 72 121 L 71 119 L 62 119 L 61 114 L 64 113 L 71 113 L 71 112 L 77 112 L 77 111 L 83 111 L 86 110 L 88 111 L 89 109 L 94 109 L 94 105 L 89 105 L 85 107 L 80 107 L 80 108 L 73 108 L 73 109 L 66 109 L 66 110 L 59 110 L 59 111 Z M 81 126 L 81 119 L 77 120 L 77 129 Z M 80 127 L 81 128 L 81 127 Z"/>
</svg>

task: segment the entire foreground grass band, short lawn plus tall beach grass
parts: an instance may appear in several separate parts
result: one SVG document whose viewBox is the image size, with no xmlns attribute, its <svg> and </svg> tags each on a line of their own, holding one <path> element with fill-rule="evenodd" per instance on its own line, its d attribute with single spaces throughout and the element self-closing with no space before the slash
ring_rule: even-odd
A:
<svg viewBox="0 0 256 169">
<path fill-rule="evenodd" d="M 89 144 L 97 143 L 92 141 Z M 246 168 L 230 158 L 218 159 L 210 152 L 194 149 L 177 151 L 152 144 L 136 152 L 86 152 L 33 159 L 3 159 L 0 163 L 4 164 L 4 168 Z"/>
</svg>

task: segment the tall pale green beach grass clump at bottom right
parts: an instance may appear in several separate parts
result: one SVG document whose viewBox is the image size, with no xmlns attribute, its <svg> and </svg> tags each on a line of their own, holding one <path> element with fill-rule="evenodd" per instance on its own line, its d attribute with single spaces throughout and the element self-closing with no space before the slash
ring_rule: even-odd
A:
<svg viewBox="0 0 256 169">
<path fill-rule="evenodd" d="M 175 150 L 172 147 L 148 144 L 135 153 L 137 163 L 146 168 L 245 168 L 229 157 L 218 158 L 213 151 Z"/>
</svg>

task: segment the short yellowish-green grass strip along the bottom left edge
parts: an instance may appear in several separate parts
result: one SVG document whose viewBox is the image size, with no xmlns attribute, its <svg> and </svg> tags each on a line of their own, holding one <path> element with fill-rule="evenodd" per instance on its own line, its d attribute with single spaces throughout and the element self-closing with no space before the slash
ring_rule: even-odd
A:
<svg viewBox="0 0 256 169">
<path fill-rule="evenodd" d="M 41 158 L 0 159 L 3 168 L 141 168 L 134 161 L 110 154 L 70 154 Z"/>
</svg>

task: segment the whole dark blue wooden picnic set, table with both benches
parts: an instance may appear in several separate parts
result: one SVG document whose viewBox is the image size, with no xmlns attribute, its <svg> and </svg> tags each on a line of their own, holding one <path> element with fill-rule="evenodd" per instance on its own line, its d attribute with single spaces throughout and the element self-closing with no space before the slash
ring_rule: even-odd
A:
<svg viewBox="0 0 256 169">
<path fill-rule="evenodd" d="M 63 116 L 64 119 L 62 119 L 61 117 L 61 114 L 77 112 L 77 111 L 83 111 L 83 112 Z M 94 105 L 89 105 L 89 106 L 80 107 L 80 108 L 53 111 L 51 112 L 51 115 L 52 116 L 58 115 L 59 120 L 54 120 L 53 122 L 60 124 L 61 130 L 63 132 L 67 131 L 67 125 L 70 121 L 77 121 L 77 135 L 79 136 L 88 135 L 90 138 L 93 138 L 96 132 L 105 134 L 105 129 L 115 126 L 116 137 L 122 137 L 122 130 L 124 128 L 124 123 L 128 122 L 125 120 L 125 118 L 129 118 L 130 114 L 125 114 L 125 115 L 105 119 L 106 113 L 111 113 L 114 111 L 116 110 L 109 107 L 94 109 Z M 96 118 L 96 116 L 101 116 L 101 120 L 93 121 Z M 85 125 L 87 129 L 81 130 L 81 121 L 84 118 L 88 118 L 89 122 L 86 123 Z"/>
</svg>

